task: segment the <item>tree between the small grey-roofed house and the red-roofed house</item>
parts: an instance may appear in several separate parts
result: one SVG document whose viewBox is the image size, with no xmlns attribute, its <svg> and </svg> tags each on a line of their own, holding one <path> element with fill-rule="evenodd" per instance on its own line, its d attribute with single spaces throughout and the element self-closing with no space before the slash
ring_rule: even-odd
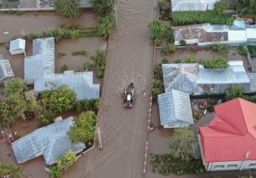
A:
<svg viewBox="0 0 256 178">
<path fill-rule="evenodd" d="M 189 127 L 174 129 L 173 135 L 169 138 L 169 147 L 173 158 L 189 160 L 193 156 L 193 142 L 193 131 Z"/>
</svg>

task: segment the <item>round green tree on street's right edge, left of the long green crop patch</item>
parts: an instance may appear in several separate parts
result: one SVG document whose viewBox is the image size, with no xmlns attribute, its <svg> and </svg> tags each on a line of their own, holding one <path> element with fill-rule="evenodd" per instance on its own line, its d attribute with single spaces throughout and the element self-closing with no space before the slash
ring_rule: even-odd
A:
<svg viewBox="0 0 256 178">
<path fill-rule="evenodd" d="M 165 25 L 160 19 L 154 19 L 148 25 L 150 36 L 154 38 L 156 44 L 160 44 L 165 30 Z"/>
</svg>

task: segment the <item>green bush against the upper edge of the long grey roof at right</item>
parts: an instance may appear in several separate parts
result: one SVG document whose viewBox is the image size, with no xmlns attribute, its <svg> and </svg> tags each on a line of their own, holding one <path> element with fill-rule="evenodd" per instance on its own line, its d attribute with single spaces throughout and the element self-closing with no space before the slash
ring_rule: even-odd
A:
<svg viewBox="0 0 256 178">
<path fill-rule="evenodd" d="M 223 56 L 215 56 L 200 61 L 206 69 L 225 69 L 228 68 L 228 59 Z"/>
</svg>

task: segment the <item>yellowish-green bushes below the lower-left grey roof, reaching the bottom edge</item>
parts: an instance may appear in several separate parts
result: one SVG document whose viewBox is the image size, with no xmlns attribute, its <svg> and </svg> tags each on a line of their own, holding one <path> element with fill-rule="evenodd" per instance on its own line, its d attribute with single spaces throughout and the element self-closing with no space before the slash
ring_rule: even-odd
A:
<svg viewBox="0 0 256 178">
<path fill-rule="evenodd" d="M 50 167 L 50 177 L 59 178 L 63 174 L 63 169 L 67 170 L 76 161 L 76 153 L 72 150 L 67 150 L 63 155 L 57 159 L 57 163 Z"/>
</svg>

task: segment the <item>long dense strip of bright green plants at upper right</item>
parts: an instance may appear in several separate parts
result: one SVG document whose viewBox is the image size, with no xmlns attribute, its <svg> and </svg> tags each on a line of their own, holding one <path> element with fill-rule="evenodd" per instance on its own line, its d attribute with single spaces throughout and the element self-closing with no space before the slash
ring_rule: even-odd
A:
<svg viewBox="0 0 256 178">
<path fill-rule="evenodd" d="M 172 25 L 190 25 L 197 23 L 232 24 L 234 17 L 231 14 L 219 15 L 215 11 L 173 11 Z"/>
</svg>

